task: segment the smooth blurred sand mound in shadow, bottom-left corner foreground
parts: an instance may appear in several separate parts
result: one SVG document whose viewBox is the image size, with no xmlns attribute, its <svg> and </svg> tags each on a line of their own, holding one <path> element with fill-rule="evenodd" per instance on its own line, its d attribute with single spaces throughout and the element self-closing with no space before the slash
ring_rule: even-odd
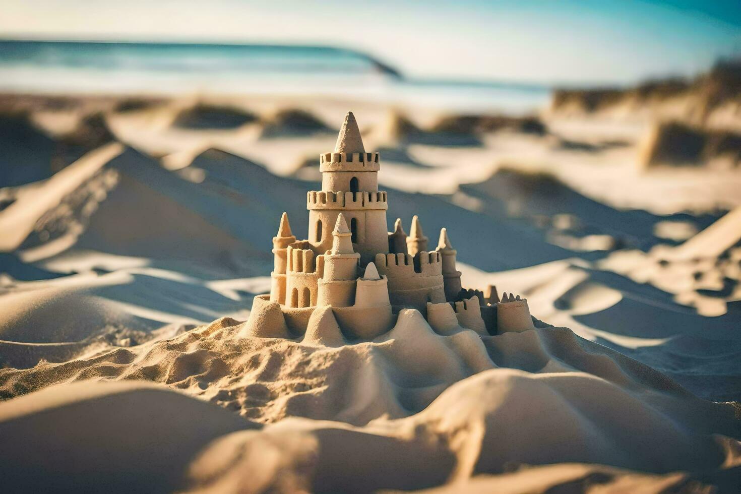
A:
<svg viewBox="0 0 741 494">
<path fill-rule="evenodd" d="M 53 388 L 0 407 L 0 477 L 13 492 L 170 492 L 210 441 L 250 427 L 144 383 Z"/>
</svg>

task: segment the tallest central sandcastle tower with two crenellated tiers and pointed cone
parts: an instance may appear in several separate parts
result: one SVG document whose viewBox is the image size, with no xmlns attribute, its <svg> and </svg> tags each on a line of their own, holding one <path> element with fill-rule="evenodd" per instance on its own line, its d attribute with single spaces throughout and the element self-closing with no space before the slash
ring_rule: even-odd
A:
<svg viewBox="0 0 741 494">
<path fill-rule="evenodd" d="M 332 230 L 342 213 L 360 264 L 388 253 L 385 192 L 378 190 L 379 153 L 366 153 L 355 116 L 349 112 L 332 153 L 319 156 L 322 190 L 307 196 L 309 243 L 317 254 L 332 247 Z"/>
</svg>

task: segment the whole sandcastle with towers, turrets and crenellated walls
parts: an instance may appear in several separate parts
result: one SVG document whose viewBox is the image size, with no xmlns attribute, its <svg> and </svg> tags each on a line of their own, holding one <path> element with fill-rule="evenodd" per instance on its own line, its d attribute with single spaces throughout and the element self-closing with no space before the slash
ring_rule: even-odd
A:
<svg viewBox="0 0 741 494">
<path fill-rule="evenodd" d="M 413 216 L 409 235 L 396 219 L 388 232 L 388 196 L 378 190 L 379 153 L 366 153 L 353 113 L 332 153 L 319 156 L 322 190 L 307 194 L 309 238 L 297 240 L 283 213 L 273 237 L 270 295 L 256 296 L 245 330 L 255 336 L 332 345 L 373 339 L 402 310 L 419 310 L 440 334 L 481 335 L 534 328 L 528 301 L 496 287 L 465 290 L 456 250 L 440 231 L 434 250 Z M 339 344 L 339 343 L 338 343 Z"/>
</svg>

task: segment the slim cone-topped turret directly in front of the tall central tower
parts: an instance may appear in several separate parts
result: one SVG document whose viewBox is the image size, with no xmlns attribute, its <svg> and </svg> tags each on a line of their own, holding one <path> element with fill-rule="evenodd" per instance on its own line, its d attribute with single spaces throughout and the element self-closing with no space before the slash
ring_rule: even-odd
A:
<svg viewBox="0 0 741 494">
<path fill-rule="evenodd" d="M 360 254 L 353 250 L 352 232 L 339 213 L 332 231 L 332 249 L 325 254 L 324 276 L 319 278 L 316 305 L 349 307 L 355 301 Z"/>
</svg>

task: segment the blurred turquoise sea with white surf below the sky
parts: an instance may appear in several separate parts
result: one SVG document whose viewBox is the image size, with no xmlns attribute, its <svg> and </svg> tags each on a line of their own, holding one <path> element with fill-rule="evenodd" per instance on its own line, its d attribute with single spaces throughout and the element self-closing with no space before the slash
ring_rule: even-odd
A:
<svg viewBox="0 0 741 494">
<path fill-rule="evenodd" d="M 408 79 L 355 50 L 237 44 L 0 41 L 0 90 L 19 93 L 348 96 L 523 113 L 547 87 Z"/>
</svg>

